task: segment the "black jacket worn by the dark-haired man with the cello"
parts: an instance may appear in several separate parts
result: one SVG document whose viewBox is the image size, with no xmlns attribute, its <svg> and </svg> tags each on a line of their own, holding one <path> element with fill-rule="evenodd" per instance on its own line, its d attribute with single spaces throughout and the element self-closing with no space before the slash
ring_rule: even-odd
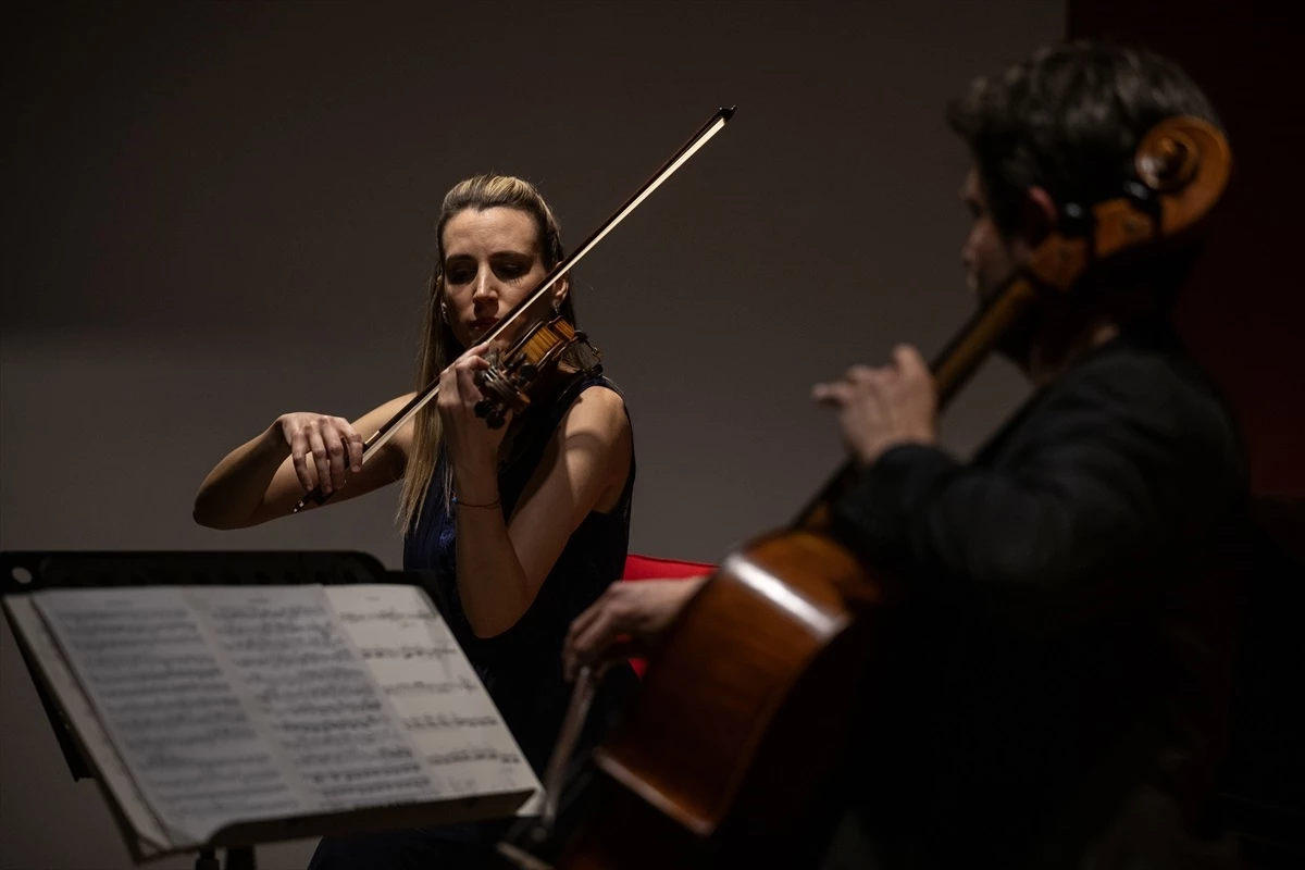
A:
<svg viewBox="0 0 1305 870">
<path fill-rule="evenodd" d="M 877 866 L 1193 866 L 1246 488 L 1163 331 L 1096 348 L 968 463 L 899 446 L 861 473 L 837 533 L 904 592 L 850 784 Z"/>
</svg>

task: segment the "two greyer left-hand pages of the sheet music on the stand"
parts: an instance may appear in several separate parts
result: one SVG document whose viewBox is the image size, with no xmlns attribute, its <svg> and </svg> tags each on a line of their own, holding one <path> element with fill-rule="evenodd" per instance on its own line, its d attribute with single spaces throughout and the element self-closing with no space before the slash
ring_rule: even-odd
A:
<svg viewBox="0 0 1305 870">
<path fill-rule="evenodd" d="M 34 597 L 174 843 L 448 796 L 320 586 Z"/>
</svg>

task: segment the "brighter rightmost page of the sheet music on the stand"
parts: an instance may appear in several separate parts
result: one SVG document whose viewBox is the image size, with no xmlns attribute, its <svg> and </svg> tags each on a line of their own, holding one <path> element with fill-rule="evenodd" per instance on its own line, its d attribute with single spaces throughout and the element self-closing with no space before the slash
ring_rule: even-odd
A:
<svg viewBox="0 0 1305 870">
<path fill-rule="evenodd" d="M 538 798 L 539 780 L 422 590 L 367 584 L 325 592 L 412 743 L 452 793 L 532 789 Z"/>
</svg>

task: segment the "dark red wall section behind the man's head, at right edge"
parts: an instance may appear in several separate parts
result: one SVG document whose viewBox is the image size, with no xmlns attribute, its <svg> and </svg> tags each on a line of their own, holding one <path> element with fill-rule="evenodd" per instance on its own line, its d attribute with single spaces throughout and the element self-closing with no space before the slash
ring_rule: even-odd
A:
<svg viewBox="0 0 1305 870">
<path fill-rule="evenodd" d="M 1067 33 L 1169 55 L 1219 110 L 1233 179 L 1180 322 L 1236 406 L 1257 494 L 1305 498 L 1305 183 L 1293 170 L 1305 137 L 1305 94 L 1287 7 L 1073 0 Z"/>
</svg>

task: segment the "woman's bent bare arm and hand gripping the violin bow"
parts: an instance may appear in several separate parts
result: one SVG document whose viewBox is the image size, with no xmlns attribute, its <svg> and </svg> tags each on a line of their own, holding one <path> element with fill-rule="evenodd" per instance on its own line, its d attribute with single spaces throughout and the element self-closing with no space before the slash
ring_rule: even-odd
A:
<svg viewBox="0 0 1305 870">
<path fill-rule="evenodd" d="M 194 522 L 210 528 L 247 528 L 286 517 L 324 481 L 338 489 L 326 505 L 355 498 L 403 476 L 411 427 L 403 427 L 358 468 L 363 440 L 407 404 L 403 395 L 350 424 L 317 413 L 286 413 L 227 454 L 200 484 Z M 346 471 L 358 468 L 346 476 Z M 308 510 L 317 507 L 309 502 Z"/>
</svg>

